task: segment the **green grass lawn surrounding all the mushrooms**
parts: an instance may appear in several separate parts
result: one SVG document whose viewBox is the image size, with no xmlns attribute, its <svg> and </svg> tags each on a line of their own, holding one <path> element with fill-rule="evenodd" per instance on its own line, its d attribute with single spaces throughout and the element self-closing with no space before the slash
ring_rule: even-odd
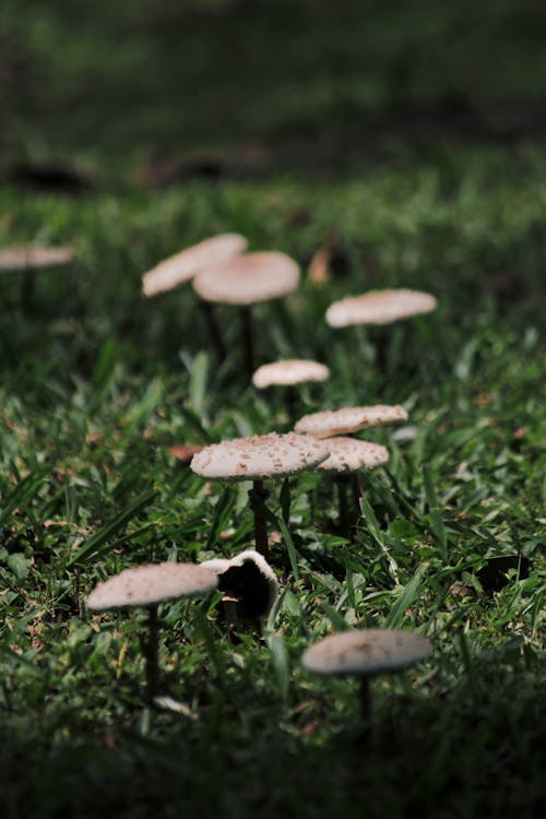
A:
<svg viewBox="0 0 546 819">
<path fill-rule="evenodd" d="M 0 278 L 7 819 L 539 815 L 544 19 L 532 3 L 435 5 L 2 4 L 0 247 L 75 249 L 36 276 L 29 305 Z M 223 31 L 242 32 L 237 60 Z M 280 44 L 273 71 L 263 55 Z M 19 173 L 45 163 L 86 185 Z M 331 369 L 299 406 L 248 382 L 229 308 L 219 361 L 191 286 L 142 296 L 157 261 L 223 232 L 301 266 L 298 290 L 256 313 L 259 363 Z M 317 286 L 320 248 L 332 260 Z M 379 287 L 430 292 L 438 309 L 329 328 L 331 301 Z M 390 460 L 363 474 L 354 539 L 336 531 L 328 475 L 272 484 L 281 595 L 263 633 L 229 641 L 218 594 L 166 604 L 164 685 L 187 708 L 143 708 L 145 615 L 92 614 L 87 594 L 128 567 L 252 542 L 249 486 L 205 483 L 169 447 L 375 403 L 410 420 L 405 436 L 360 436 Z M 519 569 L 495 571 L 513 555 Z M 434 646 L 373 681 L 366 741 L 356 682 L 300 664 L 352 627 L 416 629 Z"/>
</svg>

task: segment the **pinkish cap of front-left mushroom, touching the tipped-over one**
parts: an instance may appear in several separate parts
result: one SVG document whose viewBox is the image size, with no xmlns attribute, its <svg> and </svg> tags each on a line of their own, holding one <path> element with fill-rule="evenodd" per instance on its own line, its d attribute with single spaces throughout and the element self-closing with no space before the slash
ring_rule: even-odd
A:
<svg viewBox="0 0 546 819">
<path fill-rule="evenodd" d="M 87 608 L 106 610 L 149 606 L 216 589 L 217 577 L 197 563 L 151 563 L 126 569 L 93 590 Z"/>
</svg>

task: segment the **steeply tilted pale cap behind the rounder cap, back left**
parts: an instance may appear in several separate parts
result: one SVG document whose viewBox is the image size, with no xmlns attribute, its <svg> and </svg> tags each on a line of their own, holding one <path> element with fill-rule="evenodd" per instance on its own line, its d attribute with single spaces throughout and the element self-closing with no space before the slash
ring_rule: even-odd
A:
<svg viewBox="0 0 546 819">
<path fill-rule="evenodd" d="M 247 244 L 246 238 L 239 234 L 221 234 L 203 239 L 199 245 L 170 256 L 144 273 L 142 292 L 145 296 L 155 296 L 171 290 L 189 282 L 203 268 L 242 253 Z"/>
</svg>

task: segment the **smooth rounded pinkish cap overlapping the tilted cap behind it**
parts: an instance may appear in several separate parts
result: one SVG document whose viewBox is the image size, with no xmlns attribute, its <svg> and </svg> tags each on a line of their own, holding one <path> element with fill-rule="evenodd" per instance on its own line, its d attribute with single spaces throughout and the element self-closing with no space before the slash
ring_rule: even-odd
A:
<svg viewBox="0 0 546 819">
<path fill-rule="evenodd" d="M 292 293 L 299 281 L 299 268 L 276 250 L 247 253 L 210 265 L 193 280 L 205 301 L 241 307 L 280 298 Z"/>
</svg>

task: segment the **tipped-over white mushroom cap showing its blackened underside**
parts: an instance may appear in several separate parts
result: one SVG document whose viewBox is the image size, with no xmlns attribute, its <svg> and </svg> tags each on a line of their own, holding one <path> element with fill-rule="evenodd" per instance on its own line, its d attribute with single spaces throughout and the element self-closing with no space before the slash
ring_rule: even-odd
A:
<svg viewBox="0 0 546 819">
<path fill-rule="evenodd" d="M 247 573 L 249 565 L 252 574 Z M 236 597 L 247 607 L 259 610 L 259 618 L 264 619 L 278 594 L 278 581 L 275 572 L 264 557 L 254 549 L 245 549 L 232 558 L 213 558 L 201 563 L 204 568 L 219 575 L 219 587 Z M 222 575 L 225 575 L 223 580 Z"/>
</svg>

